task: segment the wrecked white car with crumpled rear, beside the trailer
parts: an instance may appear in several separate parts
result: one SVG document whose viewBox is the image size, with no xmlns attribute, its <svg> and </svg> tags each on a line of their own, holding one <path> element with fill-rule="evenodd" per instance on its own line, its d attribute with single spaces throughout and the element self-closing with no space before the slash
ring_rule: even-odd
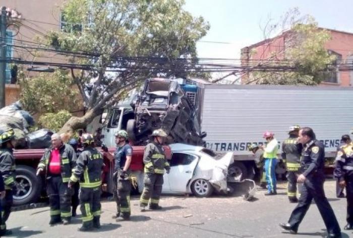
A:
<svg viewBox="0 0 353 238">
<path fill-rule="evenodd" d="M 163 194 L 194 194 L 208 197 L 216 189 L 227 193 L 227 171 L 232 152 L 217 156 L 212 150 L 186 144 L 169 145 L 172 158 L 164 174 Z"/>
</svg>

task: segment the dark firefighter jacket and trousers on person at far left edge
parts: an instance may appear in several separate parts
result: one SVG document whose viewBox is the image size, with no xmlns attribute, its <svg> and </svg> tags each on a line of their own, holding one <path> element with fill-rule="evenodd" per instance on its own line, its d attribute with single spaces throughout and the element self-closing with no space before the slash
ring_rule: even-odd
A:
<svg viewBox="0 0 353 238">
<path fill-rule="evenodd" d="M 13 187 L 15 185 L 15 157 L 13 150 L 4 148 L 0 150 L 0 171 L 3 176 L 6 195 L 1 200 L 1 224 L 0 235 L 6 231 L 6 221 L 9 219 L 13 204 Z"/>
</svg>

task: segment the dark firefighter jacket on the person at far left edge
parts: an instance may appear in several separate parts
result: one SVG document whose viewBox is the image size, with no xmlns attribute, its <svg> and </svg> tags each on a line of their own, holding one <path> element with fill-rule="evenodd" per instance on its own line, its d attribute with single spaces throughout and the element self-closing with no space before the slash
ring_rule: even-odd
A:
<svg viewBox="0 0 353 238">
<path fill-rule="evenodd" d="M 12 189 L 15 185 L 15 157 L 13 150 L 0 149 L 0 171 L 3 174 L 5 189 Z"/>
</svg>

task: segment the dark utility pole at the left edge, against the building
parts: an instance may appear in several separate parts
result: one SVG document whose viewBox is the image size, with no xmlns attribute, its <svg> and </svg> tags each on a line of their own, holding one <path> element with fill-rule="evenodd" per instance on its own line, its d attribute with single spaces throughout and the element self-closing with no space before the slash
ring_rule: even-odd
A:
<svg viewBox="0 0 353 238">
<path fill-rule="evenodd" d="M 0 21 L 0 108 L 5 106 L 5 83 L 6 83 L 6 7 L 1 10 Z"/>
</svg>

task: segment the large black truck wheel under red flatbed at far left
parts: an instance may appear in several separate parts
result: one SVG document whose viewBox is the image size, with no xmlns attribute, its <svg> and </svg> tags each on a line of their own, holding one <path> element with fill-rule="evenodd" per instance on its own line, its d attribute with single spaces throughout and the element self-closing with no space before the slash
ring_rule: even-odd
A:
<svg viewBox="0 0 353 238">
<path fill-rule="evenodd" d="M 16 184 L 13 195 L 15 206 L 36 202 L 41 188 L 42 180 L 36 176 L 36 171 L 32 167 L 16 166 Z"/>
</svg>

